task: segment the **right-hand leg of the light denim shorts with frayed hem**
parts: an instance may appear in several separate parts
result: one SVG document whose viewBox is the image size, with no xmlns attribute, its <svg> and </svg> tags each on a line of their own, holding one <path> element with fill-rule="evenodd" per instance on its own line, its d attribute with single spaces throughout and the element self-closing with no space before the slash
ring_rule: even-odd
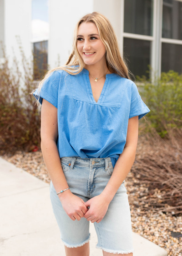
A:
<svg viewBox="0 0 182 256">
<path fill-rule="evenodd" d="M 113 167 L 110 170 L 98 170 L 96 191 L 93 196 L 100 194 L 109 181 Z M 99 182 L 98 182 L 99 181 Z M 104 182 L 101 182 L 104 181 Z M 105 183 L 105 184 L 103 184 Z M 101 186 L 99 187 L 99 184 Z M 98 243 L 96 248 L 112 253 L 133 252 L 131 212 L 127 190 L 124 182 L 111 200 L 106 215 L 101 222 L 94 222 Z"/>
</svg>

